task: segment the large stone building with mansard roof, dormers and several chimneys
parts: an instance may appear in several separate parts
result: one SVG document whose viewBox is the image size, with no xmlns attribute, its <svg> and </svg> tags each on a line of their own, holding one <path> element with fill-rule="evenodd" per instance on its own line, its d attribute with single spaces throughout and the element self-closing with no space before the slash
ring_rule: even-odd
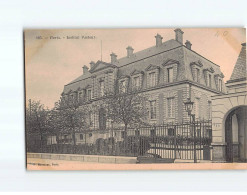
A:
<svg viewBox="0 0 247 195">
<path fill-rule="evenodd" d="M 104 121 L 100 102 L 105 91 L 114 90 L 114 83 L 126 90 L 138 89 L 148 97 L 149 123 L 188 121 L 184 102 L 190 96 L 195 102 L 196 119 L 211 119 L 211 96 L 226 93 L 224 75 L 219 65 L 194 51 L 190 41 L 184 44 L 181 29 L 174 31 L 175 39 L 163 42 L 163 37 L 157 34 L 153 47 L 134 52 L 128 46 L 123 58 L 118 59 L 112 53 L 110 62 L 91 62 L 90 68 L 83 66 L 83 74 L 64 86 L 61 100 L 77 99 L 97 108 L 90 115 L 92 130 L 110 127 L 109 121 Z M 80 139 L 78 135 L 78 142 L 95 140 L 100 135 L 94 136 L 96 133 L 90 133 Z"/>
</svg>

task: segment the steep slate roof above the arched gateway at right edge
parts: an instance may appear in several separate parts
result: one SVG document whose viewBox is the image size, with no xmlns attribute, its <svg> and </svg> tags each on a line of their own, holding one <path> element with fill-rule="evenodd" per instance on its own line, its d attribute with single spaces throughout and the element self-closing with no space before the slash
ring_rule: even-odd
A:
<svg viewBox="0 0 247 195">
<path fill-rule="evenodd" d="M 239 53 L 237 62 L 234 66 L 231 78 L 228 82 L 246 78 L 247 76 L 247 71 L 246 71 L 246 43 L 242 44 L 242 49 Z"/>
</svg>

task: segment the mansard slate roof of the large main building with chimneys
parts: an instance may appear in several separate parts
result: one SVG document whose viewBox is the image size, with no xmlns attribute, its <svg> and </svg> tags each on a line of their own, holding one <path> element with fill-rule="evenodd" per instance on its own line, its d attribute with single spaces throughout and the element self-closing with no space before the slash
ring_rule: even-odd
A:
<svg viewBox="0 0 247 195">
<path fill-rule="evenodd" d="M 118 77 L 130 76 L 134 71 L 144 71 L 150 64 L 154 66 L 160 66 L 164 63 L 169 65 L 169 62 L 176 62 L 180 64 L 178 70 L 178 80 L 189 79 L 193 80 L 190 69 L 191 63 L 199 63 L 203 65 L 203 69 L 213 69 L 214 74 L 222 74 L 220 67 L 214 64 L 210 60 L 201 56 L 193 50 L 188 49 L 180 42 L 171 39 L 163 42 L 160 46 L 153 46 L 142 51 L 133 53 L 131 57 L 123 57 L 117 60 L 114 65 L 102 61 L 96 63 L 102 63 L 106 66 L 118 67 Z M 94 66 L 94 70 L 97 66 Z M 86 75 L 81 75 L 69 84 L 64 86 L 64 93 L 68 93 L 70 90 L 76 90 L 78 87 L 86 88 L 87 85 L 91 84 L 91 70 Z M 215 87 L 214 87 L 215 88 Z"/>
</svg>

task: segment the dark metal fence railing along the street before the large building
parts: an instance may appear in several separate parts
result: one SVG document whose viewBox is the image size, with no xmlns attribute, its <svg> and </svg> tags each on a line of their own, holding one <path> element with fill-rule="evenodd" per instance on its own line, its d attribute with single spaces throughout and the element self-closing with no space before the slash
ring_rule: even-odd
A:
<svg viewBox="0 0 247 195">
<path fill-rule="evenodd" d="M 61 154 L 142 156 L 155 154 L 158 158 L 210 160 L 212 141 L 211 121 L 195 123 L 164 124 L 141 128 L 108 129 L 104 131 L 84 132 L 91 134 L 88 142 L 73 144 L 57 141 L 47 145 L 27 145 L 29 152 L 47 152 Z M 195 133 L 194 133 L 195 132 Z M 99 133 L 101 137 L 99 137 Z M 95 136 L 94 136 L 95 135 Z M 31 139 L 31 138 L 29 138 Z"/>
</svg>

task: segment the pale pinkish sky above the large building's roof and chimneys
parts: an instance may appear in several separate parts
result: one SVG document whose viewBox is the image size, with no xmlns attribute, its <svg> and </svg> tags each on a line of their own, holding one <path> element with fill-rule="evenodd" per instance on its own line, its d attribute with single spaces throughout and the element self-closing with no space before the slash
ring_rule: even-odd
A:
<svg viewBox="0 0 247 195">
<path fill-rule="evenodd" d="M 241 50 L 246 42 L 245 29 L 182 29 L 183 41 L 192 43 L 192 50 L 220 65 L 229 80 Z M 110 62 L 110 54 L 117 58 L 153 47 L 159 33 L 163 42 L 175 39 L 174 29 L 75 29 L 25 31 L 26 98 L 40 100 L 52 108 L 59 100 L 65 84 L 82 75 L 82 67 L 91 61 Z M 37 39 L 42 36 L 43 39 Z M 50 37 L 52 36 L 52 37 Z M 80 36 L 80 39 L 67 39 Z M 92 39 L 85 39 L 90 36 Z M 47 39 L 45 39 L 47 37 Z M 61 39 L 53 39 L 60 37 Z M 64 38 L 63 38 L 64 37 Z M 82 38 L 83 37 L 83 38 Z M 101 53 L 102 42 L 102 53 Z"/>
</svg>

